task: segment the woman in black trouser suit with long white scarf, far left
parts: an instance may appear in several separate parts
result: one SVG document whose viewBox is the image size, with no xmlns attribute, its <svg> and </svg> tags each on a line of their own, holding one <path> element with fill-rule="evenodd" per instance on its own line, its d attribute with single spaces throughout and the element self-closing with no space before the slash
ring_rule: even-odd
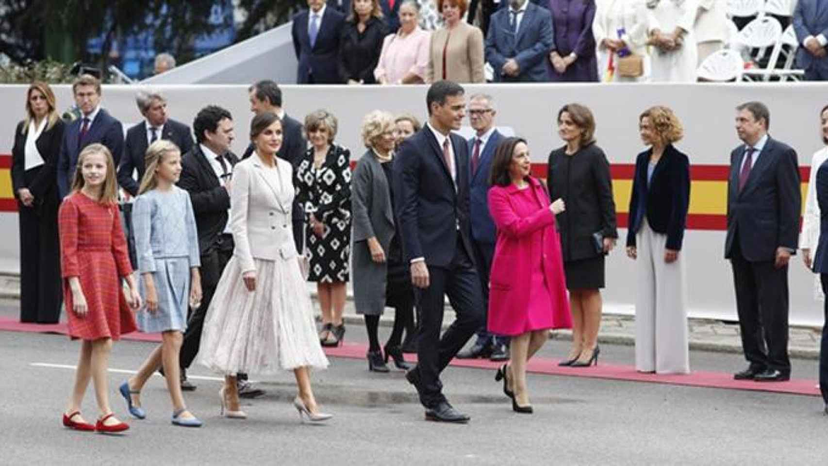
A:
<svg viewBox="0 0 828 466">
<path fill-rule="evenodd" d="M 57 163 L 64 123 L 49 84 L 26 92 L 26 119 L 12 148 L 12 188 L 20 213 L 20 320 L 56 324 L 63 301 L 57 232 Z"/>
</svg>

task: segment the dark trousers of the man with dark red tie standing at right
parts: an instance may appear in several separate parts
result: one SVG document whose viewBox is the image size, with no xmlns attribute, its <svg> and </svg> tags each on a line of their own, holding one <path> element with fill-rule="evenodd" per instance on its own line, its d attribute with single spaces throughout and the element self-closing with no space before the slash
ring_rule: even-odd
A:
<svg viewBox="0 0 828 466">
<path fill-rule="evenodd" d="M 776 369 L 791 374 L 787 357 L 787 266 L 773 261 L 749 262 L 734 241 L 733 257 L 736 310 L 744 357 L 753 369 Z"/>
</svg>

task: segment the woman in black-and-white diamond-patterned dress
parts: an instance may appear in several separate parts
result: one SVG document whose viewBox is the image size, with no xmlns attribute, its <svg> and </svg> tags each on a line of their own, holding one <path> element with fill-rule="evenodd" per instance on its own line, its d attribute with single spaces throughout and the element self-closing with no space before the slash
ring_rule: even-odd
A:
<svg viewBox="0 0 828 466">
<path fill-rule="evenodd" d="M 336 346 L 345 334 L 342 312 L 351 247 L 351 153 L 334 143 L 337 120 L 327 110 L 305 118 L 312 147 L 296 168 L 296 196 L 306 214 L 308 281 L 315 281 L 322 308 L 322 346 Z"/>
</svg>

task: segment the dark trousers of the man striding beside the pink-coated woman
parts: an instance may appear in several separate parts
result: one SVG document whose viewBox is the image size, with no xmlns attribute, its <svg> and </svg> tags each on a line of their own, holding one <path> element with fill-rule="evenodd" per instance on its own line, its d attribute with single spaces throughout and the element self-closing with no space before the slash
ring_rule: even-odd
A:
<svg viewBox="0 0 828 466">
<path fill-rule="evenodd" d="M 417 313 L 420 327 L 417 329 L 417 367 L 421 381 L 420 402 L 426 408 L 444 401 L 440 372 L 449 365 L 460 348 L 480 326 L 480 310 L 483 296 L 480 281 L 469 255 L 465 252 L 460 236 L 455 257 L 448 267 L 428 267 L 428 288 L 415 287 Z M 448 295 L 457 318 L 440 337 L 445 310 L 444 295 Z"/>
</svg>

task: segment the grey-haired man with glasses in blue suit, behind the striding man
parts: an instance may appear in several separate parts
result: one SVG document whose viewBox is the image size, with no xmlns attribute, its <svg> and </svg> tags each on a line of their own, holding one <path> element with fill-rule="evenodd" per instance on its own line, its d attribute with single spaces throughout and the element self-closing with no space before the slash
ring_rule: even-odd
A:
<svg viewBox="0 0 828 466">
<path fill-rule="evenodd" d="M 474 94 L 469 98 L 469 122 L 474 128 L 474 137 L 469 139 L 469 197 L 471 214 L 471 244 L 474 249 L 474 264 L 483 290 L 483 315 L 489 309 L 489 270 L 494 258 L 494 243 L 498 232 L 489 214 L 489 172 L 492 157 L 500 142 L 500 132 L 494 126 L 494 99 L 487 94 Z M 477 341 L 471 348 L 457 353 L 458 358 L 491 358 L 492 361 L 506 361 L 509 358 L 506 344 L 508 339 L 489 334 L 486 319 L 477 331 Z"/>
</svg>

